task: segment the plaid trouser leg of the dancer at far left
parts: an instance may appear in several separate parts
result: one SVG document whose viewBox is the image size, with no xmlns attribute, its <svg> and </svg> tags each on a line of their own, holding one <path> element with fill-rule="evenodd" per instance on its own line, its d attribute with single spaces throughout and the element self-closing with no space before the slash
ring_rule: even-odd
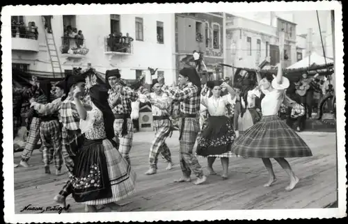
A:
<svg viewBox="0 0 348 224">
<path fill-rule="evenodd" d="M 22 161 L 28 161 L 30 159 L 36 144 L 38 144 L 38 141 L 40 140 L 40 122 L 40 118 L 34 117 L 33 120 L 31 120 L 29 135 L 22 152 Z"/>
</svg>

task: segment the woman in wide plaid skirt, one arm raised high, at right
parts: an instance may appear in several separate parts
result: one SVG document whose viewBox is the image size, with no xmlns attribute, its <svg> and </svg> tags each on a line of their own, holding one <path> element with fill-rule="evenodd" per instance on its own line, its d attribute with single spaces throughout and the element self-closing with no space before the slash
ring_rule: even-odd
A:
<svg viewBox="0 0 348 224">
<path fill-rule="evenodd" d="M 289 86 L 288 79 L 283 77 L 281 63 L 278 64 L 276 77 L 267 75 L 261 79 L 258 74 L 258 83 L 258 88 L 264 93 L 261 102 L 262 119 L 246 130 L 243 136 L 237 138 L 232 145 L 232 151 L 244 157 L 262 159 L 269 173 L 269 181 L 264 186 L 271 186 L 276 181 L 270 158 L 276 159 L 290 176 L 290 185 L 286 187 L 286 190 L 290 191 L 299 182 L 299 178 L 284 158 L 310 157 L 312 152 L 296 131 L 280 120 L 277 115 L 285 99 L 285 89 Z"/>
</svg>

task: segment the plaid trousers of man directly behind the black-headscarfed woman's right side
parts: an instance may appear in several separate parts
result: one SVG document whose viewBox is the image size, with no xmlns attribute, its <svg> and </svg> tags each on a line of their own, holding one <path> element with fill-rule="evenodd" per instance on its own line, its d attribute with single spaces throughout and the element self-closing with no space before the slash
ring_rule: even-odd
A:
<svg viewBox="0 0 348 224">
<path fill-rule="evenodd" d="M 115 138 L 116 138 L 116 144 L 119 145 L 118 152 L 122 154 L 122 157 L 125 158 L 125 160 L 130 163 L 129 159 L 129 152 L 132 149 L 132 143 L 133 143 L 133 120 L 131 118 L 127 118 L 127 132 L 125 136 L 122 136 L 122 124 L 123 119 L 115 119 L 113 122 L 113 129 L 115 130 Z M 118 139 L 118 140 L 117 140 Z"/>
</svg>

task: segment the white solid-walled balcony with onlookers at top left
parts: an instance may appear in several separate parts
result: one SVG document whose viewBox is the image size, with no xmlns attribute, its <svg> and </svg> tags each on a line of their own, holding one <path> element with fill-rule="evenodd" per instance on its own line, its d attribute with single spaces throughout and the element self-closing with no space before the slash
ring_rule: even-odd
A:
<svg viewBox="0 0 348 224">
<path fill-rule="evenodd" d="M 39 51 L 38 28 L 35 26 L 12 25 L 12 49 L 15 51 Z"/>
</svg>

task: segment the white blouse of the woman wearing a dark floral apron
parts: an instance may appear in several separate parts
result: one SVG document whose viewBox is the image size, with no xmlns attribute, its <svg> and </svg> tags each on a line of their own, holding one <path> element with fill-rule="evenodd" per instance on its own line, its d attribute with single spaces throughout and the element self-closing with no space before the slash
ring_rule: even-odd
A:
<svg viewBox="0 0 348 224">
<path fill-rule="evenodd" d="M 228 104 L 234 104 L 235 99 L 232 99 L 230 94 L 219 98 L 202 96 L 200 102 L 203 106 L 207 107 L 209 115 L 223 116 L 226 115 L 226 106 Z"/>
</svg>

